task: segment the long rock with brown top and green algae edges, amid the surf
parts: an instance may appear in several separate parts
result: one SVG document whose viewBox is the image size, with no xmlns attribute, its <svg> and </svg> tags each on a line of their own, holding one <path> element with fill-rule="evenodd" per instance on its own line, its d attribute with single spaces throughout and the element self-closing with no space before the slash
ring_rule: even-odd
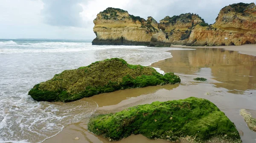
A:
<svg viewBox="0 0 256 143">
<path fill-rule="evenodd" d="M 173 73 L 163 76 L 152 67 L 132 65 L 123 59 L 113 58 L 76 70 L 65 70 L 35 85 L 29 95 L 36 101 L 70 102 L 127 88 L 175 83 L 180 83 L 180 77 Z"/>
</svg>

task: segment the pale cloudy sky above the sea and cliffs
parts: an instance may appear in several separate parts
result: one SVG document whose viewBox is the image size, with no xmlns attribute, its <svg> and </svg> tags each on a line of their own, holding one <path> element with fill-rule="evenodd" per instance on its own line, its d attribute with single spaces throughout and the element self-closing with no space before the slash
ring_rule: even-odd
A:
<svg viewBox="0 0 256 143">
<path fill-rule="evenodd" d="M 0 39 L 94 39 L 93 19 L 108 7 L 136 16 L 199 14 L 212 24 L 221 8 L 256 0 L 0 0 Z"/>
</svg>

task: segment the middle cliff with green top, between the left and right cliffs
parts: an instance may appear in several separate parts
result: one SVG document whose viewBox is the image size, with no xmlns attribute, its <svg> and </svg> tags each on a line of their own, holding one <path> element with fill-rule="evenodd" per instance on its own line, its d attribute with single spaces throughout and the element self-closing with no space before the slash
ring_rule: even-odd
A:
<svg viewBox="0 0 256 143">
<path fill-rule="evenodd" d="M 169 47 L 173 42 L 186 45 L 192 27 L 197 24 L 205 24 L 204 20 L 197 14 L 188 13 L 173 17 L 167 16 L 163 20 L 160 20 L 158 24 L 162 34 L 153 35 L 150 46 Z"/>
</svg>

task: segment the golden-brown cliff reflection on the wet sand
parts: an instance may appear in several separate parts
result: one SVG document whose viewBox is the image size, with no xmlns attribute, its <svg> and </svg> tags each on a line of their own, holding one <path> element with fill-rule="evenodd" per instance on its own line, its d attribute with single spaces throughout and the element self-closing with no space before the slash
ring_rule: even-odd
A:
<svg viewBox="0 0 256 143">
<path fill-rule="evenodd" d="M 256 56 L 215 48 L 172 50 L 173 58 L 152 64 L 165 72 L 204 76 L 220 81 L 230 93 L 256 89 Z M 248 91 L 249 92 L 249 91 Z"/>
</svg>

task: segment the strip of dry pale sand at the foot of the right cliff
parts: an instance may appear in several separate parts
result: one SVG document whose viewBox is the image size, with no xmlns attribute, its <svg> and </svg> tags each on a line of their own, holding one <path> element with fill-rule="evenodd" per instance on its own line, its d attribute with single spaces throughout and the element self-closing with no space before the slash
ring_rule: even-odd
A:
<svg viewBox="0 0 256 143">
<path fill-rule="evenodd" d="M 238 51 L 241 54 L 256 56 L 256 44 L 247 44 L 239 46 L 185 46 L 171 45 L 171 48 L 218 48 L 224 50 Z"/>
</svg>

